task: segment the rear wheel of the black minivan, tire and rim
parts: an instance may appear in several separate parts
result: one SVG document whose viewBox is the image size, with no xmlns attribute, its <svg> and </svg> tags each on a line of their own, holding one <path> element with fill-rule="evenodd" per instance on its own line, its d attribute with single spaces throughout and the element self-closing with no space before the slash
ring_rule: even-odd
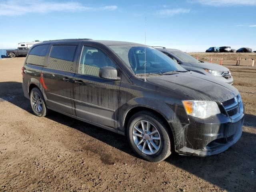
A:
<svg viewBox="0 0 256 192">
<path fill-rule="evenodd" d="M 38 102 L 36 103 L 36 101 Z M 44 97 L 38 88 L 33 88 L 30 92 L 30 105 L 34 114 L 38 117 L 44 117 L 48 113 Z"/>
</svg>

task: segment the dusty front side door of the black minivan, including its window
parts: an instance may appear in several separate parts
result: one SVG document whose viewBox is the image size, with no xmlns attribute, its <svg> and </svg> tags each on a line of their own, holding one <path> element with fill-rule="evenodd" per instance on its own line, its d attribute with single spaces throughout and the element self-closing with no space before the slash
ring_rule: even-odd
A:
<svg viewBox="0 0 256 192">
<path fill-rule="evenodd" d="M 110 129 L 118 127 L 120 80 L 99 76 L 104 66 L 119 68 L 100 48 L 82 46 L 79 67 L 74 76 L 74 102 L 76 116 Z M 120 75 L 119 75 L 120 76 Z"/>
</svg>

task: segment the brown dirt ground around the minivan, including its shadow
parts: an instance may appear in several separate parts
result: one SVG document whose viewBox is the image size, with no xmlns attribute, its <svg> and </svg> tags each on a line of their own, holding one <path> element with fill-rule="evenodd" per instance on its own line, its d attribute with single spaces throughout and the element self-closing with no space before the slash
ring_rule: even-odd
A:
<svg viewBox="0 0 256 192">
<path fill-rule="evenodd" d="M 24 58 L 0 60 L 0 192 L 256 191 L 256 67 L 228 66 L 246 119 L 240 140 L 210 157 L 136 157 L 124 136 L 52 112 L 32 114 Z"/>
</svg>

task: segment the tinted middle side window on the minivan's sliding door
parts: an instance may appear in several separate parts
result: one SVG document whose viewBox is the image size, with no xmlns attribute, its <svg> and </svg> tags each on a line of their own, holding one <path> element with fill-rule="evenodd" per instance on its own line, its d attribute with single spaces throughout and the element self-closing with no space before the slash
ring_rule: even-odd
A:
<svg viewBox="0 0 256 192">
<path fill-rule="evenodd" d="M 76 45 L 53 45 L 48 67 L 64 71 L 74 71 Z"/>
</svg>

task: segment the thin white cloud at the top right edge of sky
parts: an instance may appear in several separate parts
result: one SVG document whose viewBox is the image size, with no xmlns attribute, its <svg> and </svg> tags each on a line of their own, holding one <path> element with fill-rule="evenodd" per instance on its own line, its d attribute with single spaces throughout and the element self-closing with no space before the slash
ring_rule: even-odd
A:
<svg viewBox="0 0 256 192">
<path fill-rule="evenodd" d="M 189 2 L 196 2 L 203 5 L 210 6 L 233 6 L 233 5 L 247 5 L 255 6 L 256 0 L 189 0 Z"/>
</svg>

